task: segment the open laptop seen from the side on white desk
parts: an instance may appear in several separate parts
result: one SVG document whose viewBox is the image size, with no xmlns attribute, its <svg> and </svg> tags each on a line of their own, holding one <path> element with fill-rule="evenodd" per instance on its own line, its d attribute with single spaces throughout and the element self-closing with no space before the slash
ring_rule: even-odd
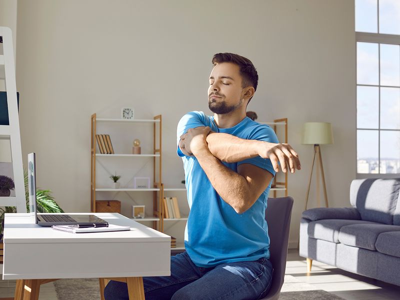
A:
<svg viewBox="0 0 400 300">
<path fill-rule="evenodd" d="M 37 213 L 36 207 L 36 160 L 35 153 L 28 154 L 28 193 L 29 193 L 29 215 L 34 217 L 34 222 L 40 226 L 52 225 L 103 225 L 108 224 L 105 220 L 94 214 L 44 214 Z M 94 225 L 94 226 L 95 226 Z"/>
</svg>

